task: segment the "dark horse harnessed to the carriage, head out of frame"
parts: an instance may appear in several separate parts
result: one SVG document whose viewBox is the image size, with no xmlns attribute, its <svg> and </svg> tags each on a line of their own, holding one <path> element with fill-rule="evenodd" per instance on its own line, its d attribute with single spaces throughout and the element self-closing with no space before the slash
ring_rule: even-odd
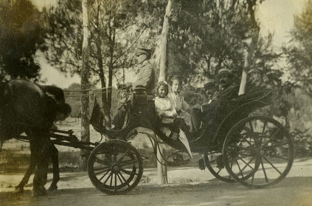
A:
<svg viewBox="0 0 312 206">
<path fill-rule="evenodd" d="M 52 184 L 56 186 L 59 180 L 57 150 L 51 144 L 49 132 L 58 112 L 64 111 L 64 104 L 60 106 L 56 100 L 46 95 L 46 92 L 55 91 L 51 88 L 53 87 L 45 89 L 44 86 L 22 79 L 0 85 L 0 138 L 8 140 L 18 137 L 23 132 L 27 134 L 31 148 L 31 164 L 18 187 L 24 187 L 37 166 L 33 180 L 35 196 L 46 193 L 44 185 L 47 179 L 49 157 L 52 157 L 52 163 L 55 166 L 53 169 L 55 180 Z M 61 89 L 57 88 L 57 90 Z M 64 95 L 62 96 L 64 98 Z M 68 111 L 68 106 L 66 104 L 66 111 Z"/>
</svg>

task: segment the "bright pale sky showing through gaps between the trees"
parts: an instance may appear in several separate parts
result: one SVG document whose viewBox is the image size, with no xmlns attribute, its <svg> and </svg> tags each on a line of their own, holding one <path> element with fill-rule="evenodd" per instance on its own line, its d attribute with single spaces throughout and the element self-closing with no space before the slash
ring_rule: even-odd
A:
<svg viewBox="0 0 312 206">
<path fill-rule="evenodd" d="M 56 0 L 32 0 L 39 9 L 56 4 Z M 265 0 L 256 11 L 256 18 L 260 22 L 260 34 L 267 36 L 268 32 L 274 32 L 273 45 L 279 49 L 289 41 L 288 32 L 294 25 L 294 15 L 302 12 L 305 2 L 309 0 Z M 45 57 L 38 53 L 37 61 L 41 65 L 42 78 L 46 78 L 46 84 L 55 84 L 61 88 L 68 87 L 73 82 L 80 83 L 79 76 L 65 77 L 59 71 L 46 63 Z M 133 76 L 133 73 L 126 75 Z"/>
</svg>

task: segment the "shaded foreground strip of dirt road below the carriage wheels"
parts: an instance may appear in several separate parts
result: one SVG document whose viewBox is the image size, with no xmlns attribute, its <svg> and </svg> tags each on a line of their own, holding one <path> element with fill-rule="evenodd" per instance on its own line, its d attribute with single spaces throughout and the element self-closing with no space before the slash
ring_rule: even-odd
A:
<svg viewBox="0 0 312 206">
<path fill-rule="evenodd" d="M 311 192 L 312 177 L 286 177 L 265 189 L 249 189 L 221 181 L 138 185 L 124 195 L 106 195 L 95 188 L 59 189 L 33 198 L 31 191 L 0 192 L 0 205 L 287 205 Z"/>
</svg>

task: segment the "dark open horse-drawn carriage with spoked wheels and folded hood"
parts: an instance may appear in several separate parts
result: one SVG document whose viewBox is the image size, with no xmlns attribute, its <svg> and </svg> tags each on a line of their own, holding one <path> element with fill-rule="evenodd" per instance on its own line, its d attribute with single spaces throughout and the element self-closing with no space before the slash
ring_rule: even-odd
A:
<svg viewBox="0 0 312 206">
<path fill-rule="evenodd" d="M 179 139 L 170 139 L 159 129 L 153 97 L 148 96 L 144 88 L 135 89 L 130 96 L 126 102 L 127 120 L 121 130 L 108 130 L 103 126 L 103 114 L 95 99 L 90 123 L 109 140 L 82 142 L 72 131 L 58 131 L 68 136 L 52 133 L 50 136 L 53 144 L 91 151 L 88 159 L 90 180 L 106 194 L 123 194 L 139 184 L 143 156 L 128 141 L 142 132 L 142 128 L 155 151 L 162 142 L 175 150 L 188 152 Z M 271 91 L 261 90 L 231 101 L 220 101 L 200 131 L 187 134 L 191 151 L 203 154 L 200 168 L 207 166 L 217 179 L 240 182 L 251 188 L 263 188 L 285 178 L 293 162 L 294 150 L 288 131 L 270 117 L 249 116 L 252 111 L 267 105 L 270 96 Z"/>
</svg>

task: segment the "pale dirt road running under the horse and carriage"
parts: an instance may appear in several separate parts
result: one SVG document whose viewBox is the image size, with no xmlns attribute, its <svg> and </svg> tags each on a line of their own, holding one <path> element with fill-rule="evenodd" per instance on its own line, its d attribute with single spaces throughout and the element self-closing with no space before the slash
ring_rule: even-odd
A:
<svg viewBox="0 0 312 206">
<path fill-rule="evenodd" d="M 224 183 L 214 179 L 207 170 L 204 172 L 197 168 L 170 170 L 169 182 L 175 184 L 155 185 L 155 174 L 155 169 L 146 169 L 144 175 L 148 183 L 139 184 L 128 194 L 116 196 L 105 195 L 95 189 L 90 184 L 86 173 L 62 174 L 61 182 L 58 184 L 59 190 L 49 192 L 40 198 L 33 198 L 31 190 L 25 190 L 23 194 L 13 193 L 14 185 L 4 184 L 4 179 L 9 178 L 6 175 L 0 175 L 2 184 L 0 203 L 1 205 L 19 206 L 312 205 L 312 159 L 295 160 L 287 177 L 279 184 L 266 189 L 247 189 L 238 183 Z M 20 176 L 22 177 L 22 175 Z M 178 182 L 184 183 L 177 184 Z M 31 184 L 28 185 L 27 189 L 31 189 L 31 186 Z"/>
</svg>

